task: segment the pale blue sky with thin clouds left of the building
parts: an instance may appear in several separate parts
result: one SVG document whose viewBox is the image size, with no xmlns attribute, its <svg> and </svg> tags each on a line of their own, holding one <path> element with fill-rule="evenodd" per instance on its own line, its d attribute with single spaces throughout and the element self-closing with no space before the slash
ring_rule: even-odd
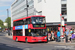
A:
<svg viewBox="0 0 75 50">
<path fill-rule="evenodd" d="M 7 9 L 9 9 L 9 17 L 11 17 L 11 4 L 15 0 L 0 0 L 0 19 L 5 22 L 7 18 Z"/>
</svg>

